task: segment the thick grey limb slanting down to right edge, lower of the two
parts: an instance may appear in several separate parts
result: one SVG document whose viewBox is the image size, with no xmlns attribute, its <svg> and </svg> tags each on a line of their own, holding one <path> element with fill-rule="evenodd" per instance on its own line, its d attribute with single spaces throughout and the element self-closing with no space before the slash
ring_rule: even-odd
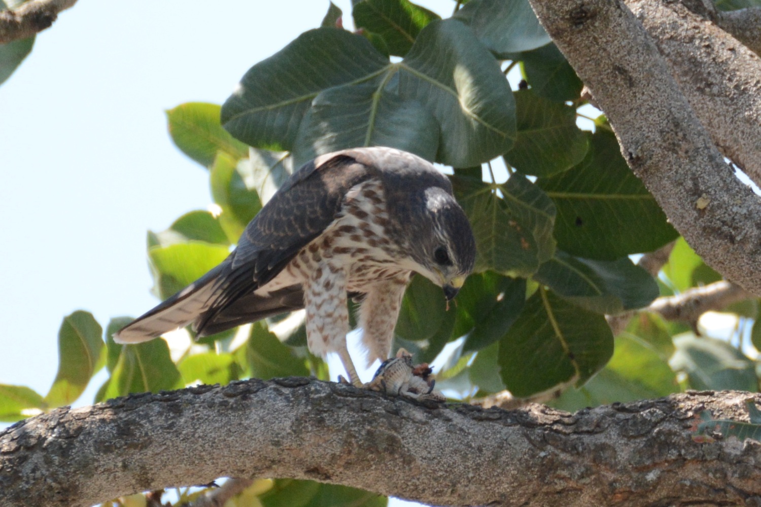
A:
<svg viewBox="0 0 761 507">
<path fill-rule="evenodd" d="M 761 199 L 734 177 L 621 0 L 530 0 L 607 114 L 624 157 L 713 268 L 761 294 Z"/>
</svg>

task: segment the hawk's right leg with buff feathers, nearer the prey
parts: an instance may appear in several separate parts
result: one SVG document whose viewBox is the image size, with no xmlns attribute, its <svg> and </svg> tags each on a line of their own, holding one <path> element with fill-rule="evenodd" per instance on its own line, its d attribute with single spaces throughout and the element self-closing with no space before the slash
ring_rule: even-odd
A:
<svg viewBox="0 0 761 507">
<path fill-rule="evenodd" d="M 371 285 L 359 309 L 359 327 L 362 344 L 368 350 L 368 365 L 374 360 L 383 363 L 388 359 L 393 341 L 393 328 L 402 306 L 404 290 L 409 282 L 409 271 L 389 280 Z"/>
</svg>

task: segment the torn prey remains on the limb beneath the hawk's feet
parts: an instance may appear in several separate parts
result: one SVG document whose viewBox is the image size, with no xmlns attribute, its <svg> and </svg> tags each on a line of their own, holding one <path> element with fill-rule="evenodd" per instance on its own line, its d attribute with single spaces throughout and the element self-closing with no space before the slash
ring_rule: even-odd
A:
<svg viewBox="0 0 761 507">
<path fill-rule="evenodd" d="M 371 382 L 365 387 L 381 391 L 387 395 L 406 396 L 417 400 L 446 401 L 439 391 L 434 390 L 436 381 L 431 376 L 427 363 L 412 364 L 412 354 L 404 349 L 396 357 L 385 360 L 375 372 Z"/>
</svg>

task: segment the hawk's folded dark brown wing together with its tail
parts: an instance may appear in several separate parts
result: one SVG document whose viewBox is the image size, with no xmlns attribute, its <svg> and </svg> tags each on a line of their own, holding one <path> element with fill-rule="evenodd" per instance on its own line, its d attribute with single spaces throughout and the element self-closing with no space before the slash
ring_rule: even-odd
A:
<svg viewBox="0 0 761 507">
<path fill-rule="evenodd" d="M 221 265 L 114 335 L 139 343 L 194 323 L 204 336 L 303 307 L 301 287 L 269 296 L 253 291 L 272 280 L 336 218 L 346 192 L 371 177 L 352 150 L 323 155 L 285 182 L 246 227 Z"/>
</svg>

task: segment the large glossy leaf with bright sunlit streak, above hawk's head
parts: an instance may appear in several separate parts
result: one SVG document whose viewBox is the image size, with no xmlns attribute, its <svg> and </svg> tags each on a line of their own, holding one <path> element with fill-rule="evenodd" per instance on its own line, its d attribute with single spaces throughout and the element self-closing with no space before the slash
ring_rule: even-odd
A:
<svg viewBox="0 0 761 507">
<path fill-rule="evenodd" d="M 399 65 L 399 94 L 425 104 L 441 125 L 436 160 L 473 166 L 508 151 L 515 102 L 497 61 L 473 30 L 431 21 Z"/>
</svg>

